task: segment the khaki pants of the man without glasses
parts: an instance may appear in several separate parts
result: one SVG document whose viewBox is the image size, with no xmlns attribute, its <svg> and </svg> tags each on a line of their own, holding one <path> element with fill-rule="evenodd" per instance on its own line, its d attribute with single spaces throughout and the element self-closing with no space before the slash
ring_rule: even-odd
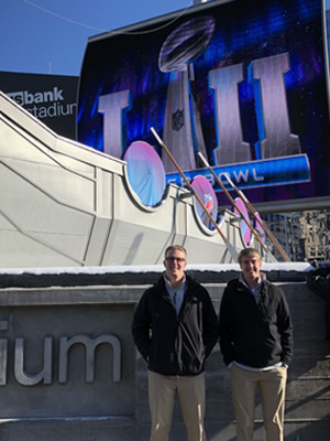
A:
<svg viewBox="0 0 330 441">
<path fill-rule="evenodd" d="M 252 372 L 231 366 L 238 441 L 253 440 L 255 391 L 260 388 L 267 441 L 283 441 L 286 367 Z"/>
</svg>

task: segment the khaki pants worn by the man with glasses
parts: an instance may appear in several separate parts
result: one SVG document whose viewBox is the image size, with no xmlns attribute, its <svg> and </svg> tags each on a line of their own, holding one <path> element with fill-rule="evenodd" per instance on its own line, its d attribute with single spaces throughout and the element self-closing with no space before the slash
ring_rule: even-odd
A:
<svg viewBox="0 0 330 441">
<path fill-rule="evenodd" d="M 160 375 L 148 370 L 151 441 L 168 441 L 175 395 L 178 395 L 188 441 L 206 441 L 204 431 L 205 374 L 194 377 Z"/>
</svg>

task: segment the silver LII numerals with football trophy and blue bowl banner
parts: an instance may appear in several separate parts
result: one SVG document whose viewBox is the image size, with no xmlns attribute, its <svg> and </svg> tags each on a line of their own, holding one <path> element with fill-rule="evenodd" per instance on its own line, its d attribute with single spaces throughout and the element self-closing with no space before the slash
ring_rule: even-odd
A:
<svg viewBox="0 0 330 441">
<path fill-rule="evenodd" d="M 194 94 L 194 64 L 208 49 L 213 32 L 212 17 L 188 20 L 167 36 L 158 54 L 158 69 L 167 76 L 163 140 L 182 170 L 191 171 L 190 178 L 194 178 L 194 171 L 198 169 L 196 152 L 208 157 Z M 219 64 L 217 60 L 213 63 L 215 66 Z M 207 74 L 208 93 L 213 97 L 217 139 L 217 146 L 212 149 L 213 166 L 221 169 L 237 164 L 238 169 L 231 176 L 237 182 L 238 178 L 246 186 L 293 182 L 292 166 L 295 168 L 295 182 L 310 181 L 308 158 L 301 154 L 299 137 L 292 132 L 290 127 L 284 80 L 289 71 L 290 56 L 284 52 L 252 60 L 248 67 L 246 63 L 239 63 L 211 68 Z M 257 115 L 260 140 L 254 144 L 244 141 L 242 130 L 239 85 L 245 78 L 252 87 Z M 124 127 L 121 116 L 134 107 L 131 95 L 132 92 L 125 89 L 98 98 L 98 111 L 103 115 L 103 151 L 118 158 L 125 148 L 122 146 Z M 120 129 L 113 129 L 118 126 Z M 290 157 L 295 157 L 295 164 L 293 161 L 289 165 L 278 161 Z M 277 162 L 273 164 L 275 159 Z M 168 155 L 163 155 L 162 160 L 167 176 L 176 172 Z M 246 166 L 243 170 L 238 164 Z M 221 170 L 218 175 L 221 175 Z M 169 179 L 170 182 L 182 184 L 179 178 Z"/>
</svg>

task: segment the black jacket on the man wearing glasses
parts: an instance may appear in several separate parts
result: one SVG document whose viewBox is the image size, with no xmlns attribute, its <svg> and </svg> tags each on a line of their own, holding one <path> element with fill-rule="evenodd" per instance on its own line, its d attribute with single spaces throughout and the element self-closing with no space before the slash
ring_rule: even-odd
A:
<svg viewBox="0 0 330 441">
<path fill-rule="evenodd" d="M 134 343 L 148 369 L 158 374 L 200 374 L 219 338 L 218 319 L 207 290 L 189 276 L 186 283 L 179 316 L 163 277 L 143 293 L 134 313 Z"/>
</svg>

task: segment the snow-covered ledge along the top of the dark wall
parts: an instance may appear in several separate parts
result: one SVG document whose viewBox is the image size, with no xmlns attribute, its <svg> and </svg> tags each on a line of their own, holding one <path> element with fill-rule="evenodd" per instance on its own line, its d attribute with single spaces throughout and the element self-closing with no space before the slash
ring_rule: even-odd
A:
<svg viewBox="0 0 330 441">
<path fill-rule="evenodd" d="M 6 268 L 0 269 L 0 288 L 150 284 L 163 270 L 163 265 Z M 272 281 L 304 281 L 314 267 L 308 262 L 276 262 L 263 263 L 262 270 Z M 224 283 L 237 277 L 240 266 L 188 263 L 187 272 L 201 283 Z"/>
</svg>

